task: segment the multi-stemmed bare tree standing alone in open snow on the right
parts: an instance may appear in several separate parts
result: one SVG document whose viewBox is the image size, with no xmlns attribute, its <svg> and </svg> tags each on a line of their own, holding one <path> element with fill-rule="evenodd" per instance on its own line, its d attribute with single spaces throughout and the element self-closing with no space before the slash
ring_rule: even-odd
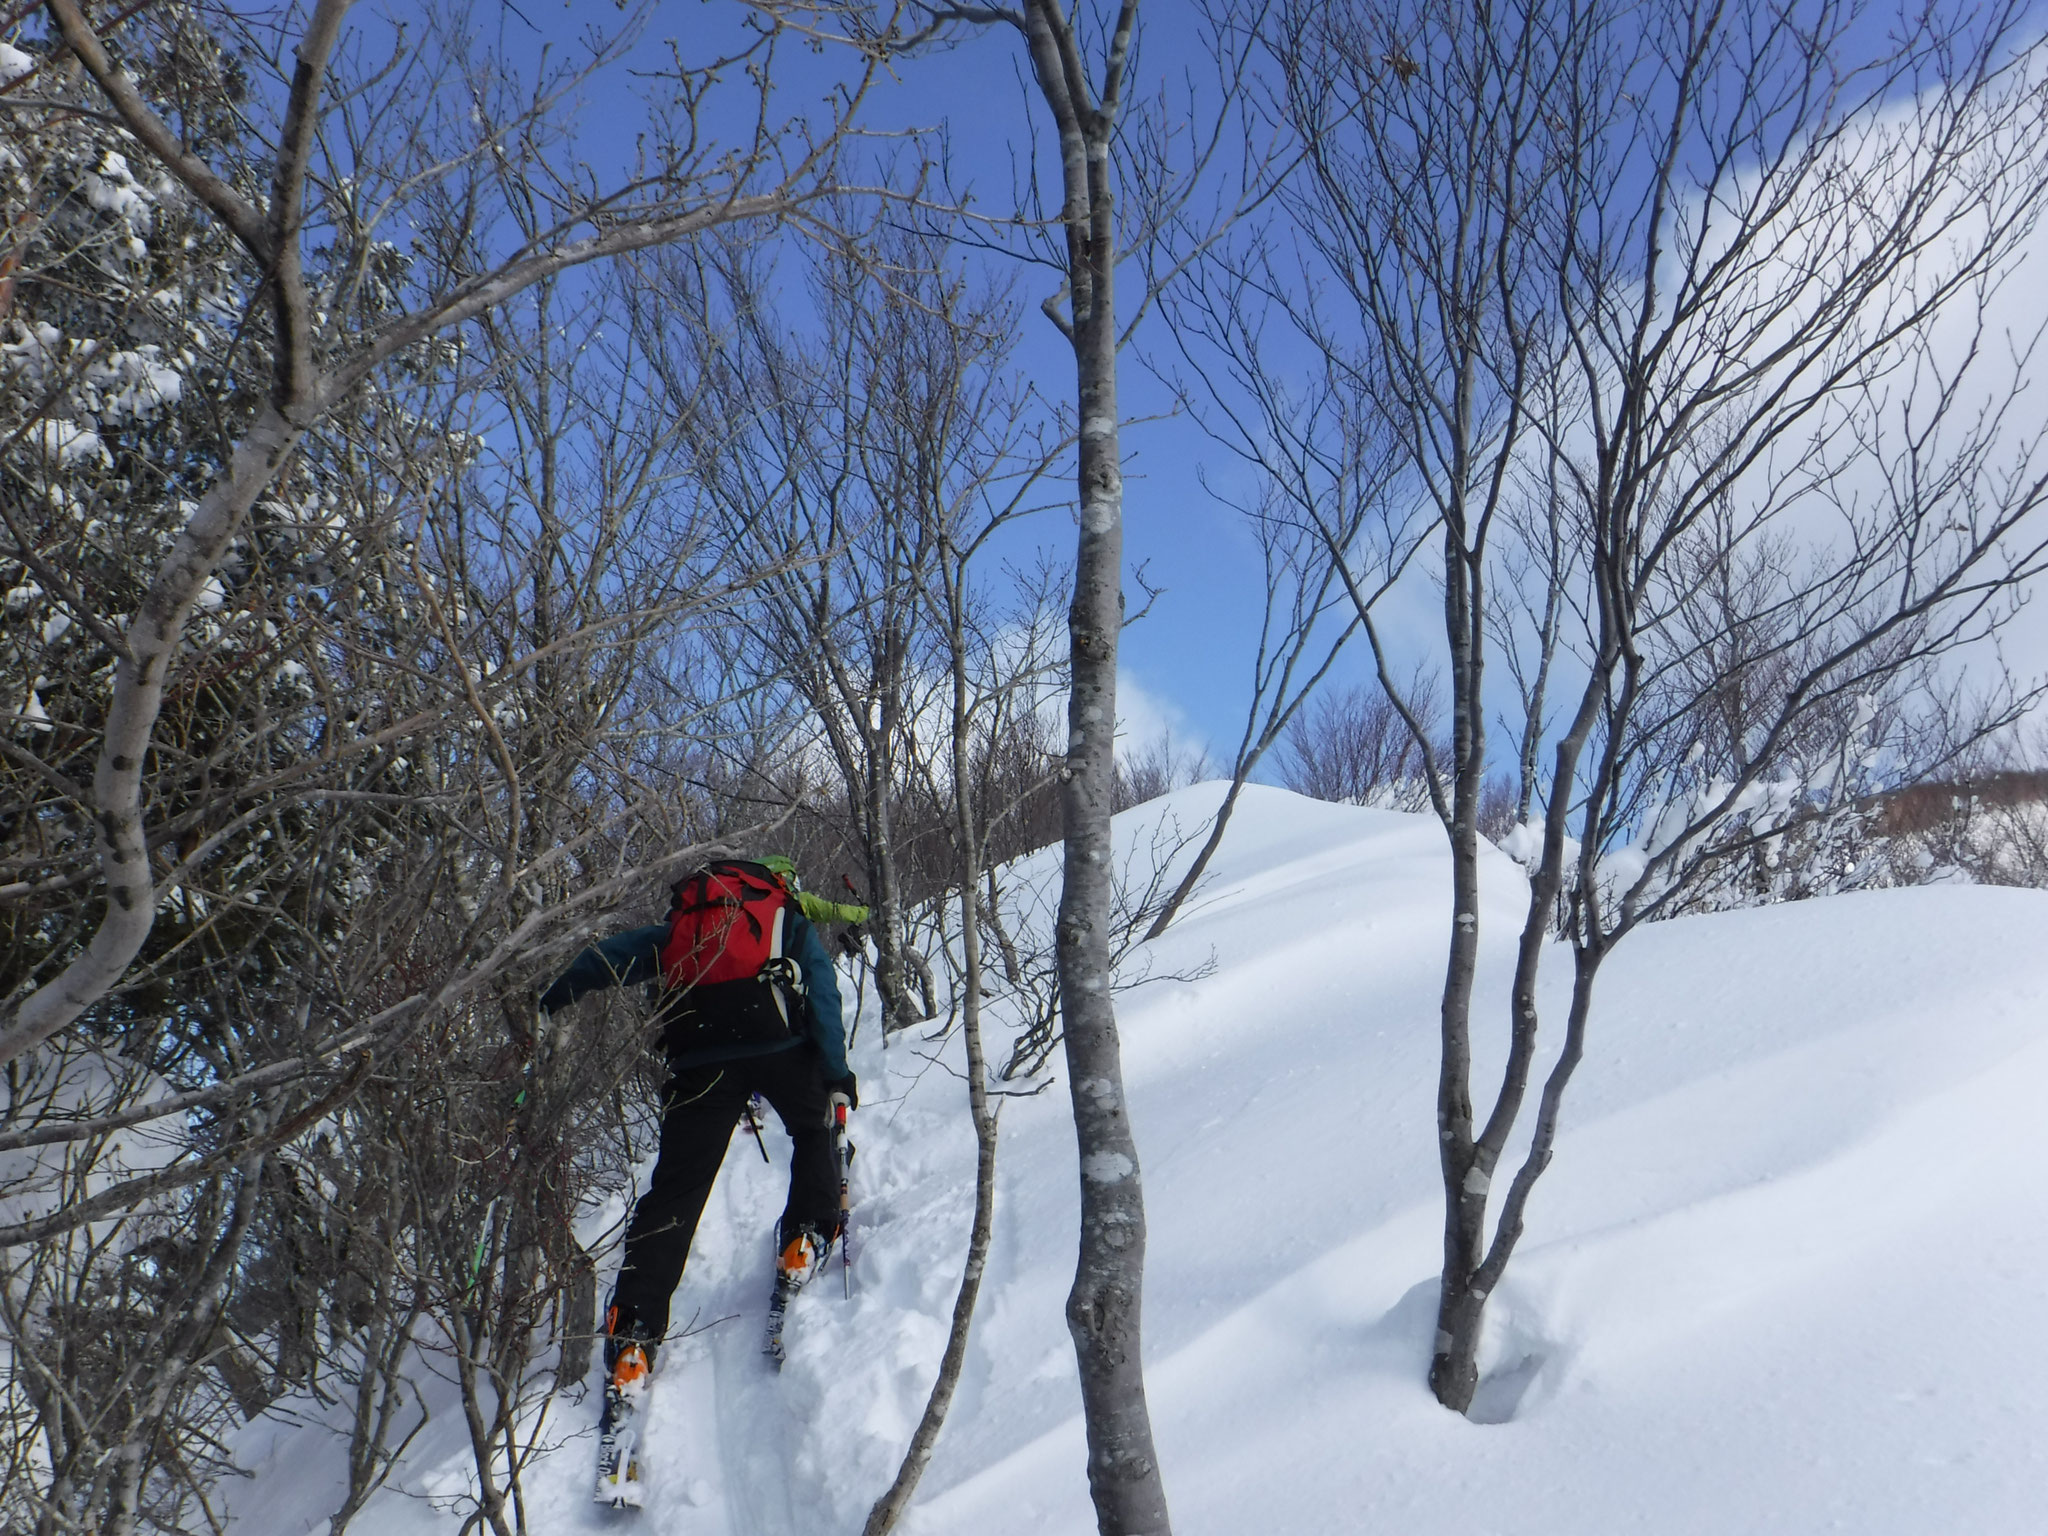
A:
<svg viewBox="0 0 2048 1536">
<path fill-rule="evenodd" d="M 1870 725 L 1880 696 L 1894 719 L 1939 715 L 1946 664 L 2040 569 L 2023 369 L 1982 348 L 1987 305 L 2048 186 L 2021 25 L 2019 6 L 1915 10 L 1880 33 L 1825 2 L 1673 0 L 1458 16 L 1298 6 L 1272 33 L 1278 109 L 1311 172 L 1290 211 L 1313 268 L 1354 309 L 1339 322 L 1298 299 L 1294 313 L 1370 395 L 1358 420 L 1399 446 L 1417 512 L 1395 526 L 1442 551 L 1430 575 L 1448 754 L 1393 688 L 1368 584 L 1354 598 L 1452 846 L 1430 1372 L 1448 1407 L 1473 1401 L 1485 1303 L 1550 1161 L 1606 954 L 1784 831 L 1751 811 L 1800 741 L 1835 731 L 1839 762 L 1841 733 Z M 1561 506 L 1518 516 L 1528 498 Z M 1485 664 L 1503 633 L 1489 584 L 1518 528 L 1569 535 L 1569 551 L 1524 547 L 1518 567 L 1561 592 L 1511 629 L 1544 647 L 1563 633 L 1571 684 L 1559 729 L 1536 719 L 1520 739 L 1524 762 L 1532 739 L 1548 741 L 1550 768 L 1534 793 L 1505 1073 L 1475 1116 Z M 1333 545 L 1370 571 L 1405 557 L 1401 541 Z M 1753 600 L 1694 600 L 1716 561 Z M 1559 686 L 1538 657 L 1520 676 L 1524 709 Z M 1708 770 L 1714 700 L 1731 686 L 1749 692 L 1741 745 Z M 1890 752 L 1901 778 L 1925 774 L 2017 702 L 1993 690 L 1944 729 L 1866 748 Z M 1802 795 L 1800 813 L 1827 795 Z M 1561 1055 L 1489 1223 L 1561 901 L 1573 956 Z"/>
</svg>

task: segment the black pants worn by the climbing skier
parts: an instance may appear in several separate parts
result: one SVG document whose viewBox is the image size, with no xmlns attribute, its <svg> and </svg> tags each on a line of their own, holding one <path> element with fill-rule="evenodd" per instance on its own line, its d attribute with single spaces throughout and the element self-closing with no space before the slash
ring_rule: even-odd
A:
<svg viewBox="0 0 2048 1536">
<path fill-rule="evenodd" d="M 733 1126 L 752 1094 L 774 1106 L 795 1143 L 780 1241 L 786 1245 L 803 1227 L 823 1235 L 840 1225 L 840 1169 L 817 1053 L 797 1047 L 686 1067 L 670 1077 L 662 1104 L 662 1153 L 627 1227 L 627 1255 L 612 1290 L 618 1333 L 647 1343 L 668 1333 L 668 1300 L 682 1280 L 696 1221 L 705 1214 Z"/>
</svg>

